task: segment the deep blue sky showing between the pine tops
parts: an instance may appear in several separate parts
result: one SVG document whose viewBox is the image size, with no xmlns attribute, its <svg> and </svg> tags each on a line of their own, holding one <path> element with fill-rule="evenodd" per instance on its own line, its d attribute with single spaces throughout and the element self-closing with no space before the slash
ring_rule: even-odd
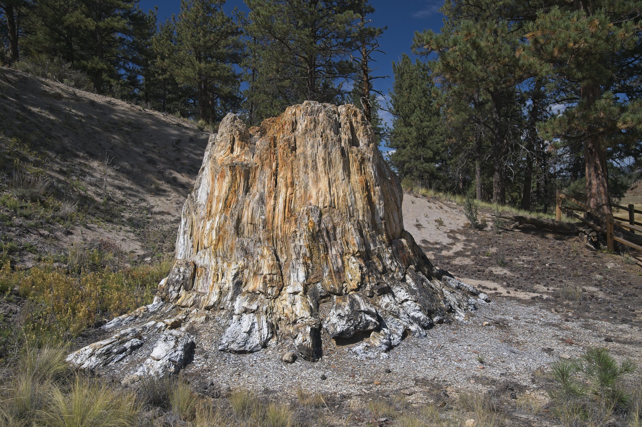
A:
<svg viewBox="0 0 642 427">
<path fill-rule="evenodd" d="M 444 16 L 438 9 L 444 2 L 443 0 L 371 0 L 370 3 L 375 8 L 375 12 L 370 17 L 372 25 L 388 27 L 379 41 L 381 50 L 385 54 L 377 53 L 374 56 L 377 60 L 374 66 L 378 67 L 376 74 L 390 76 L 386 79 L 377 79 L 374 86 L 387 96 L 393 81 L 392 62 L 398 61 L 403 53 L 410 54 L 410 45 L 415 31 L 422 29 L 438 31 L 442 27 Z M 180 0 L 141 0 L 140 5 L 143 10 L 158 6 L 160 22 L 171 17 L 172 13 L 178 14 L 180 10 Z M 243 0 L 228 0 L 224 9 L 230 11 L 234 7 L 246 12 L 248 10 Z M 387 112 L 381 112 L 381 117 L 386 122 L 390 121 L 390 114 Z"/>
</svg>

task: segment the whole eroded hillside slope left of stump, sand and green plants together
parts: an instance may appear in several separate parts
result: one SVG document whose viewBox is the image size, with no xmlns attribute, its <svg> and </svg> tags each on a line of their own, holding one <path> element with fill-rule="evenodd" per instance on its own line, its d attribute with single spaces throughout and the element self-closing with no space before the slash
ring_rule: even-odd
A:
<svg viewBox="0 0 642 427">
<path fill-rule="evenodd" d="M 130 258 L 173 250 L 208 137 L 173 115 L 1 67 L 0 255 L 30 265 L 74 242 Z"/>
</svg>

